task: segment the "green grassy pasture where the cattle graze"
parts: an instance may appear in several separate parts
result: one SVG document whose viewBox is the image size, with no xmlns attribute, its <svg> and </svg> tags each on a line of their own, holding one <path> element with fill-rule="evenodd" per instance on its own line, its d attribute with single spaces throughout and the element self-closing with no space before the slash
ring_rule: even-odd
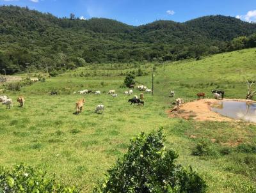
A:
<svg viewBox="0 0 256 193">
<path fill-rule="evenodd" d="M 141 69 L 150 72 L 150 64 Z M 115 70 L 118 69 L 118 70 Z M 25 106 L 15 102 L 12 109 L 0 106 L 0 166 L 12 167 L 24 162 L 56 174 L 58 181 L 77 185 L 82 192 L 90 192 L 93 183 L 104 176 L 118 157 L 127 150 L 129 139 L 139 132 L 159 127 L 166 133 L 166 146 L 179 153 L 179 163 L 192 166 L 209 186 L 208 192 L 252 192 L 256 189 L 256 156 L 237 152 L 237 141 L 253 144 L 256 126 L 248 123 L 218 121 L 196 122 L 168 118 L 170 90 L 185 101 L 196 99 L 196 93 L 224 89 L 227 98 L 244 98 L 243 77 L 255 75 L 256 49 L 217 54 L 200 61 L 179 61 L 157 66 L 154 96 L 145 94 L 145 106 L 129 105 L 119 88 L 124 81 L 121 72 L 137 70 L 123 65 L 95 65 L 70 71 L 26 86 L 19 92 L 4 93 L 11 98 L 23 95 Z M 80 76 L 81 72 L 87 74 Z M 90 74 L 90 75 L 88 75 Z M 151 87 L 150 74 L 136 77 L 136 81 Z M 84 111 L 74 115 L 79 89 L 106 91 L 100 96 L 84 95 Z M 108 95 L 115 89 L 118 98 Z M 56 90 L 60 95 L 51 96 Z M 134 94 L 140 92 L 134 89 Z M 104 114 L 95 114 L 97 104 L 104 104 Z M 196 139 L 189 136 L 195 135 Z M 214 139 L 212 147 L 229 148 L 228 155 L 191 155 L 200 139 Z"/>
</svg>

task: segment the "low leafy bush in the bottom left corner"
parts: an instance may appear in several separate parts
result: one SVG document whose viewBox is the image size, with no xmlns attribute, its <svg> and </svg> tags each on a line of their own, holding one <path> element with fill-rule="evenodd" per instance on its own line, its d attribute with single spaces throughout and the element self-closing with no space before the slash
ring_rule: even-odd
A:
<svg viewBox="0 0 256 193">
<path fill-rule="evenodd" d="M 75 187 L 64 187 L 40 169 L 19 165 L 14 169 L 0 167 L 0 192 L 78 192 Z"/>
</svg>

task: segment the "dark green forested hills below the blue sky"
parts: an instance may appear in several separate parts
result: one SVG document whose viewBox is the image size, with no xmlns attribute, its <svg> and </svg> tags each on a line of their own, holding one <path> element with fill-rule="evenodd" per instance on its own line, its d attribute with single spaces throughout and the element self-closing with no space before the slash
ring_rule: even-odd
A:
<svg viewBox="0 0 256 193">
<path fill-rule="evenodd" d="M 67 19 L 18 6 L 0 6 L 0 73 L 76 68 L 86 63 L 174 61 L 226 50 L 256 24 L 221 15 L 179 23 L 129 26 L 111 19 Z M 233 42 L 234 43 L 234 42 Z"/>
</svg>

